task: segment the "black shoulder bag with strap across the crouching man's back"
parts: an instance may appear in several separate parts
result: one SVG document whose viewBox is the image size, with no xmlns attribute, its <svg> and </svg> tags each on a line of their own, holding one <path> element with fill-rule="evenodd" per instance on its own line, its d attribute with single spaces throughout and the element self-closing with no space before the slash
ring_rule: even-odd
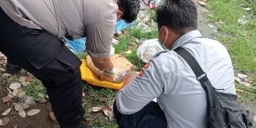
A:
<svg viewBox="0 0 256 128">
<path fill-rule="evenodd" d="M 253 114 L 244 110 L 237 102 L 236 95 L 216 91 L 197 60 L 187 50 L 178 47 L 175 52 L 187 62 L 206 90 L 208 128 L 254 128 Z"/>
</svg>

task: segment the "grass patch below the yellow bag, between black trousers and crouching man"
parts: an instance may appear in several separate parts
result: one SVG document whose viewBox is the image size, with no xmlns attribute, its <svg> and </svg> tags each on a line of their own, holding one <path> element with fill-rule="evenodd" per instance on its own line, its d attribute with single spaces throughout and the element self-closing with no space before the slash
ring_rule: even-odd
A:
<svg viewBox="0 0 256 128">
<path fill-rule="evenodd" d="M 116 128 L 114 115 L 106 116 L 103 111 L 91 111 L 93 107 L 109 107 L 114 103 L 114 97 L 117 95 L 117 90 L 112 90 L 102 87 L 94 87 L 90 84 L 83 84 L 84 93 L 87 96 L 83 98 L 83 106 L 85 110 L 85 118 L 87 123 L 95 126 L 104 126 L 105 128 Z"/>
</svg>

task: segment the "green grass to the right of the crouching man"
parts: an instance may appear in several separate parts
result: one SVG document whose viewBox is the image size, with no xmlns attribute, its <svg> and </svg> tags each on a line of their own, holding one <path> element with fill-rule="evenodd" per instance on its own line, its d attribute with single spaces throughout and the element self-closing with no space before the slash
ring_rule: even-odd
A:
<svg viewBox="0 0 256 128">
<path fill-rule="evenodd" d="M 236 83 L 239 100 L 256 103 L 256 2 L 254 0 L 209 0 L 209 20 L 220 30 L 218 38 L 230 53 L 236 72 L 252 79 L 251 87 Z M 243 8 L 251 8 L 245 11 Z M 246 23 L 238 20 L 246 17 Z"/>
</svg>

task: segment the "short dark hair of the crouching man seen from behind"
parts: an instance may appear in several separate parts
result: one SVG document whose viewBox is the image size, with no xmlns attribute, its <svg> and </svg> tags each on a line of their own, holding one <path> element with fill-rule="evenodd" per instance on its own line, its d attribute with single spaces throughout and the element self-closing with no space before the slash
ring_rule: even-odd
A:
<svg viewBox="0 0 256 128">
<path fill-rule="evenodd" d="M 157 26 L 168 26 L 184 34 L 183 29 L 197 29 L 197 8 L 192 0 L 166 0 L 157 8 Z"/>
</svg>

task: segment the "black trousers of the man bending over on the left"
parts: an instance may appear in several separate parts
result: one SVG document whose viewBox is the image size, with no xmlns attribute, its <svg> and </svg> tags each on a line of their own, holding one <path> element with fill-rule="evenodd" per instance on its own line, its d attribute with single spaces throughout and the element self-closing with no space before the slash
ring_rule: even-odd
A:
<svg viewBox="0 0 256 128">
<path fill-rule="evenodd" d="M 20 26 L 0 8 L 0 51 L 8 61 L 42 81 L 62 128 L 81 122 L 81 60 L 59 38 L 41 29 Z"/>
</svg>

